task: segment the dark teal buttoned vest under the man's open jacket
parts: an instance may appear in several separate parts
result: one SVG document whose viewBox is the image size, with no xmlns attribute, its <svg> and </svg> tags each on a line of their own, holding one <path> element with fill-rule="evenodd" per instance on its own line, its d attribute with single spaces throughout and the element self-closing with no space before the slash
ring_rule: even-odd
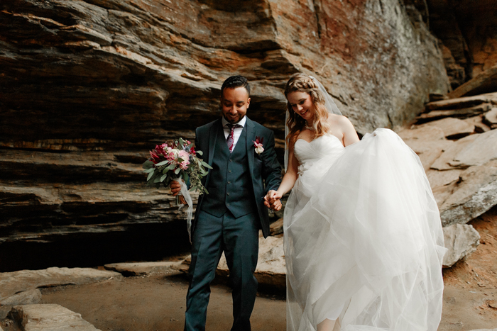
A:
<svg viewBox="0 0 497 331">
<path fill-rule="evenodd" d="M 241 131 L 233 152 L 229 152 L 223 128 L 219 129 L 212 158 L 209 184 L 202 211 L 221 217 L 230 211 L 236 218 L 257 212 L 246 149 L 246 128 Z"/>
</svg>

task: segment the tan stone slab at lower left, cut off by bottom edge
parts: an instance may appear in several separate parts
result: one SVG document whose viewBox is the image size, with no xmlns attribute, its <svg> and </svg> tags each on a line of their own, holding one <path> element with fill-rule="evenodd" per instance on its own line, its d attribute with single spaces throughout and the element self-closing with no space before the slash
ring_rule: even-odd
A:
<svg viewBox="0 0 497 331">
<path fill-rule="evenodd" d="M 75 313 L 61 305 L 16 305 L 9 313 L 21 331 L 100 331 Z"/>
</svg>

